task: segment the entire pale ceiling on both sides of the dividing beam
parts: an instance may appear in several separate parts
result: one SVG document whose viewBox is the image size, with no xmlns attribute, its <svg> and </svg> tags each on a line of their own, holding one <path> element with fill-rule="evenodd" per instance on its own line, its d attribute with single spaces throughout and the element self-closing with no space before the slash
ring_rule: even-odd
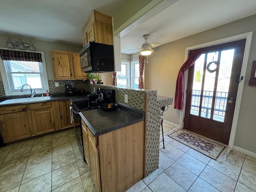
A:
<svg viewBox="0 0 256 192">
<path fill-rule="evenodd" d="M 165 5 L 171 0 L 163 0 Z M 121 37 L 121 52 L 133 54 L 148 42 L 165 44 L 256 14 L 256 0 L 172 0 Z M 81 44 L 82 27 L 93 9 L 114 16 L 127 0 L 2 0 L 0 34 Z M 136 6 L 136 5 L 134 5 Z M 239 27 L 239 26 L 238 26 Z"/>
</svg>

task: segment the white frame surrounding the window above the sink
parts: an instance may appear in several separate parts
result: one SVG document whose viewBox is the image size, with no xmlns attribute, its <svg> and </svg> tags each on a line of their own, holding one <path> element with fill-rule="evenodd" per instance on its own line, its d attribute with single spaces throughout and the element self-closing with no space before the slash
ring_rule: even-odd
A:
<svg viewBox="0 0 256 192">
<path fill-rule="evenodd" d="M 13 50 L 13 49 L 10 49 L 10 48 L 0 48 L 0 49 Z M 41 53 L 41 56 L 42 56 L 42 79 L 43 79 L 42 80 L 42 85 L 44 85 L 44 87 L 42 88 L 42 92 L 45 93 L 46 90 L 49 90 L 44 52 L 18 50 L 18 49 L 15 49 L 15 51 Z M 30 89 L 24 89 L 24 92 L 20 92 L 20 90 L 12 91 L 11 84 L 10 84 L 8 78 L 7 78 L 6 69 L 4 67 L 4 61 L 1 58 L 0 58 L 0 72 L 1 72 L 2 81 L 3 81 L 3 84 L 4 84 L 4 92 L 5 92 L 6 96 L 30 95 L 31 94 Z M 32 88 L 32 89 L 34 89 L 34 88 Z M 40 91 L 40 88 L 37 88 L 35 90 L 36 90 L 37 94 L 42 93 Z"/>
</svg>

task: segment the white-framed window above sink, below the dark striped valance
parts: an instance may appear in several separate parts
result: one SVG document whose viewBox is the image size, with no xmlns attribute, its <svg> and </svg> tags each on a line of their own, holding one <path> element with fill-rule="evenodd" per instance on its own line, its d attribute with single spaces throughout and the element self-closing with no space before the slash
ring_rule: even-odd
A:
<svg viewBox="0 0 256 192">
<path fill-rule="evenodd" d="M 44 62 L 44 53 L 42 62 L 20 61 L 20 60 L 0 60 L 0 70 L 4 83 L 6 96 L 30 94 L 30 87 L 24 86 L 24 92 L 20 89 L 22 85 L 29 84 L 36 93 L 49 90 L 46 66 Z M 3 63 L 2 63 L 3 62 Z"/>
</svg>

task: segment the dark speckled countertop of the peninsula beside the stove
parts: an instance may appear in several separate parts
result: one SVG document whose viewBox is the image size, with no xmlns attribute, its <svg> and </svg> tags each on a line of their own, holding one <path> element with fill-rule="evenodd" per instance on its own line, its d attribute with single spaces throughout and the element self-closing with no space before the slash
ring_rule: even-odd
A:
<svg viewBox="0 0 256 192">
<path fill-rule="evenodd" d="M 103 111 L 101 108 L 80 112 L 94 136 L 123 128 L 144 120 L 144 111 L 118 103 L 115 111 Z"/>
</svg>

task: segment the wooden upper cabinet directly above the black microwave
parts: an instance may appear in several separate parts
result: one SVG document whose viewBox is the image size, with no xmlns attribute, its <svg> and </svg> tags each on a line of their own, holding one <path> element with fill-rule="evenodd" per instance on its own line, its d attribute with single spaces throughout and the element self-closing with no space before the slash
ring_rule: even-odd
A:
<svg viewBox="0 0 256 192">
<path fill-rule="evenodd" d="M 83 28 L 83 46 L 89 41 L 113 45 L 112 17 L 92 11 Z"/>
</svg>

